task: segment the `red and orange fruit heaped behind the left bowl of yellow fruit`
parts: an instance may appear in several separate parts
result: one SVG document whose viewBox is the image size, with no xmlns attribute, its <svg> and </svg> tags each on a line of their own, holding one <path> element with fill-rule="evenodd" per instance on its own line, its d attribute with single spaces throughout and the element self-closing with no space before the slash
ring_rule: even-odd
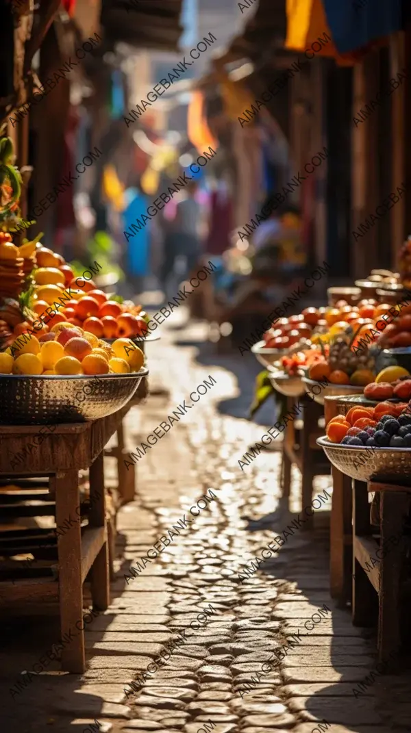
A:
<svg viewBox="0 0 411 733">
<path fill-rule="evenodd" d="M 148 333 L 149 317 L 142 306 L 118 302 L 117 296 L 110 298 L 92 280 L 80 276 L 76 282 L 65 259 L 36 240 L 17 247 L 10 234 L 0 232 L 0 274 L 0 297 L 8 296 L 1 298 L 0 304 L 3 349 L 39 320 L 45 322 L 42 331 L 68 322 L 98 339 L 136 338 Z M 29 288 L 28 292 L 23 292 L 23 287 Z"/>
</svg>

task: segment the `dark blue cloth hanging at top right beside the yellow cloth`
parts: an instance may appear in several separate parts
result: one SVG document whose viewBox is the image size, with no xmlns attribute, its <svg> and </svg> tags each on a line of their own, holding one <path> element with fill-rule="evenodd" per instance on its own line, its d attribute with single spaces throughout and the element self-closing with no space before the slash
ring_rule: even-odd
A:
<svg viewBox="0 0 411 733">
<path fill-rule="evenodd" d="M 323 0 L 332 40 L 340 54 L 403 29 L 403 1 Z"/>
</svg>

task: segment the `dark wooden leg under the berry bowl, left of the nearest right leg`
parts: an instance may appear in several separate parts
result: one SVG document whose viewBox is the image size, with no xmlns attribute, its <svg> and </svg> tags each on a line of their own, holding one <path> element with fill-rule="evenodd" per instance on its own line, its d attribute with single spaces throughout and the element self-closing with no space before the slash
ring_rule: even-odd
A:
<svg viewBox="0 0 411 733">
<path fill-rule="evenodd" d="M 371 535 L 370 505 L 367 485 L 352 479 L 352 623 L 354 626 L 371 627 L 377 616 L 377 593 L 355 559 L 356 535 Z"/>
</svg>

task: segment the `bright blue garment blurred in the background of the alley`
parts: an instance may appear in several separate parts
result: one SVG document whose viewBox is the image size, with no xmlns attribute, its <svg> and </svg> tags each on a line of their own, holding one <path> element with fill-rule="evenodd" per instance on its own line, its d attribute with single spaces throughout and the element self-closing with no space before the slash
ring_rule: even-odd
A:
<svg viewBox="0 0 411 733">
<path fill-rule="evenodd" d="M 127 188 L 124 196 L 127 205 L 123 211 L 124 229 L 128 229 L 131 234 L 134 229 L 129 229 L 129 227 L 136 223 L 137 218 L 142 221 L 141 215 L 147 212 L 150 201 L 137 188 Z M 149 220 L 139 232 L 134 234 L 134 237 L 128 240 L 127 262 L 131 275 L 144 276 L 150 273 L 150 226 Z"/>
</svg>

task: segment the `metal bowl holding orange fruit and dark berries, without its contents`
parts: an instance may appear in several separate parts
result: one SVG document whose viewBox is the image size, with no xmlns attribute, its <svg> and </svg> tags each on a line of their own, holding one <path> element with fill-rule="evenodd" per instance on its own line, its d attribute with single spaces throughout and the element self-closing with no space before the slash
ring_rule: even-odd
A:
<svg viewBox="0 0 411 733">
<path fill-rule="evenodd" d="M 325 437 L 317 438 L 317 445 L 338 471 L 357 481 L 404 483 L 411 479 L 411 448 L 341 446 Z"/>
</svg>

